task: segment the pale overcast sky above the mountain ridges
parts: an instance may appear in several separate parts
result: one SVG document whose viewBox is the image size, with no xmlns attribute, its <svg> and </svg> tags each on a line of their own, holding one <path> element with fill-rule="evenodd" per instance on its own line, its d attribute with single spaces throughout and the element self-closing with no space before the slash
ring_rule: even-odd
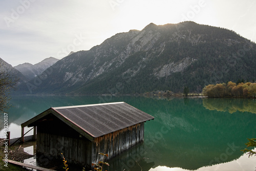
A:
<svg viewBox="0 0 256 171">
<path fill-rule="evenodd" d="M 61 59 L 116 33 L 184 20 L 256 42 L 255 9 L 255 0 L 1 0 L 0 58 L 12 66 Z"/>
</svg>

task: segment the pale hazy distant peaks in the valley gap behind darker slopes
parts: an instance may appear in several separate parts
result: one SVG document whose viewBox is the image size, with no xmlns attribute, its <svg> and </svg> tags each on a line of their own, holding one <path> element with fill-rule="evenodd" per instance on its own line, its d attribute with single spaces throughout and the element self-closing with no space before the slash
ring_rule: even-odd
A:
<svg viewBox="0 0 256 171">
<path fill-rule="evenodd" d="M 32 65 L 31 63 L 23 63 L 14 68 L 19 72 L 23 73 L 23 75 L 26 76 L 28 79 L 32 79 L 37 75 L 40 75 L 58 60 L 59 59 L 56 59 L 54 57 L 49 57 L 40 61 L 39 63 L 36 63 L 35 65 Z"/>
</svg>

